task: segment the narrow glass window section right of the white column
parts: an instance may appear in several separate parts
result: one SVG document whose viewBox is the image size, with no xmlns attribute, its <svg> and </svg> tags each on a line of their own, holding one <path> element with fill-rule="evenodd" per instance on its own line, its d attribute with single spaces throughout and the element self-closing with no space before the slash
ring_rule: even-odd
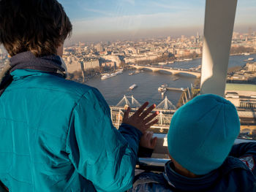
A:
<svg viewBox="0 0 256 192">
<path fill-rule="evenodd" d="M 255 11 L 255 1 L 238 1 L 225 91 L 237 107 L 242 139 L 256 139 Z"/>
</svg>

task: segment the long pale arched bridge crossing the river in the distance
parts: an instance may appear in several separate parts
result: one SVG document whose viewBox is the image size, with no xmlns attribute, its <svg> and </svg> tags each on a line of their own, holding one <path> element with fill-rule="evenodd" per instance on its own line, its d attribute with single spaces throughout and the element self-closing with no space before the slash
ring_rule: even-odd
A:
<svg viewBox="0 0 256 192">
<path fill-rule="evenodd" d="M 193 76 L 199 78 L 201 72 L 193 69 L 172 69 L 168 66 L 148 66 L 148 65 L 129 65 L 136 69 L 150 69 L 153 72 L 165 71 L 171 74 L 192 74 Z"/>
</svg>

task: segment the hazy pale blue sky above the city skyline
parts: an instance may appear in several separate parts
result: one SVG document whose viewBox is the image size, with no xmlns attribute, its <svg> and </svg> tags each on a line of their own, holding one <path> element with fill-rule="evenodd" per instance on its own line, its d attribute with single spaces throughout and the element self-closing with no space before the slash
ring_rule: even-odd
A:
<svg viewBox="0 0 256 192">
<path fill-rule="evenodd" d="M 213 0 L 214 1 L 214 0 Z M 203 34 L 204 0 L 59 0 L 72 25 L 71 42 Z M 235 31 L 256 31 L 256 1 L 238 0 Z"/>
</svg>

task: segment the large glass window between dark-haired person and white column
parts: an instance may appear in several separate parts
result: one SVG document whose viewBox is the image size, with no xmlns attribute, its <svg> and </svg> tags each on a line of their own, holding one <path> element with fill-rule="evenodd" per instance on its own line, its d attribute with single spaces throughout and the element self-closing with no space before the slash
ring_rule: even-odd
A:
<svg viewBox="0 0 256 192">
<path fill-rule="evenodd" d="M 64 51 L 72 80 L 94 86 L 118 128 L 124 107 L 156 104 L 155 133 L 199 93 L 204 1 L 61 1 L 73 23 Z M 189 15 L 189 17 L 188 17 Z"/>
</svg>

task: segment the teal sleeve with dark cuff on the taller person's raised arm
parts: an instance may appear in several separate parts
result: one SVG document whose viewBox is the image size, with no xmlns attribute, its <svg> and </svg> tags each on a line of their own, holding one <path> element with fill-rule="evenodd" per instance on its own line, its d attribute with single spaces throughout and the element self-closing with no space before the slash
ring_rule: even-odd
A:
<svg viewBox="0 0 256 192">
<path fill-rule="evenodd" d="M 132 188 L 140 137 L 132 126 L 118 131 L 105 99 L 92 89 L 74 107 L 66 150 L 78 173 L 97 191 L 127 191 Z"/>
</svg>

